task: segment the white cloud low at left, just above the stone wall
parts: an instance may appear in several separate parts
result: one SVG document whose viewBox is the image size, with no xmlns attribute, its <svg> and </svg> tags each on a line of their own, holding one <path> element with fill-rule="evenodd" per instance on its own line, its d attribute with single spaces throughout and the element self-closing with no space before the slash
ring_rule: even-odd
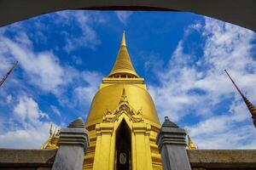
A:
<svg viewBox="0 0 256 170">
<path fill-rule="evenodd" d="M 48 139 L 49 122 L 41 120 L 48 116 L 34 99 L 20 96 L 13 117 L 15 123 L 9 122 L 9 131 L 0 134 L 0 147 L 39 149 L 40 144 Z"/>
</svg>

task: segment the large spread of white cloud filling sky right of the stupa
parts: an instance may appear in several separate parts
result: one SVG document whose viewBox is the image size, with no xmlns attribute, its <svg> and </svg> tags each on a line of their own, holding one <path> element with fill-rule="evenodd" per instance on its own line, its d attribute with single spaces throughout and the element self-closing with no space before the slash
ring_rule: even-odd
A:
<svg viewBox="0 0 256 170">
<path fill-rule="evenodd" d="M 160 86 L 149 86 L 160 119 L 164 116 L 174 122 L 186 119 L 190 123 L 189 132 L 201 149 L 255 147 L 256 132 L 250 113 L 224 74 L 224 69 L 230 71 L 255 103 L 256 61 L 252 54 L 255 33 L 209 18 L 204 25 L 195 25 L 185 31 L 166 70 L 156 72 Z M 205 38 L 201 57 L 183 50 L 186 38 L 196 31 Z M 198 122 L 191 124 L 189 117 L 197 117 Z"/>
</svg>

